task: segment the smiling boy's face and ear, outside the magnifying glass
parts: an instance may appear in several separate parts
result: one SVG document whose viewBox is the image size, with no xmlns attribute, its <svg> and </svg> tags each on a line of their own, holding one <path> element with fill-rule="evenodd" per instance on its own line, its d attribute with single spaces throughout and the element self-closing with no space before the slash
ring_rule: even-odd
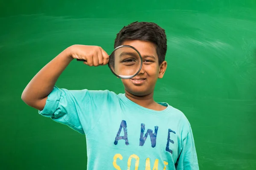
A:
<svg viewBox="0 0 256 170">
<path fill-rule="evenodd" d="M 156 47 L 151 42 L 128 40 L 123 42 L 122 45 L 131 45 L 136 48 L 143 60 L 142 68 L 137 76 L 132 79 L 122 79 L 125 90 L 136 96 L 145 96 L 153 93 L 157 79 L 162 78 L 166 70 L 166 61 L 161 65 L 158 64 Z"/>
</svg>

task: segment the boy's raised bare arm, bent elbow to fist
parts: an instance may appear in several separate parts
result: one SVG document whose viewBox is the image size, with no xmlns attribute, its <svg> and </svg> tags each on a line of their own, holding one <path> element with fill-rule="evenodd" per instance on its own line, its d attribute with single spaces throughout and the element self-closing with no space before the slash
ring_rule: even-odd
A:
<svg viewBox="0 0 256 170">
<path fill-rule="evenodd" d="M 72 45 L 66 48 L 32 78 L 21 95 L 23 102 L 43 110 L 58 77 L 73 59 L 84 59 L 84 64 L 89 66 L 106 65 L 108 54 L 99 46 Z"/>
</svg>

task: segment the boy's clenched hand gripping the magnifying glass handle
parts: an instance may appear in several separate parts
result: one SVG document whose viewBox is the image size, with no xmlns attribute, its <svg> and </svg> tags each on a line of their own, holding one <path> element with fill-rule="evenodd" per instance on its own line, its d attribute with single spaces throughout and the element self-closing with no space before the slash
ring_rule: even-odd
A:
<svg viewBox="0 0 256 170">
<path fill-rule="evenodd" d="M 89 66 L 107 65 L 109 56 L 101 47 L 94 45 L 72 45 L 69 54 L 74 59 L 84 59 Z"/>
</svg>

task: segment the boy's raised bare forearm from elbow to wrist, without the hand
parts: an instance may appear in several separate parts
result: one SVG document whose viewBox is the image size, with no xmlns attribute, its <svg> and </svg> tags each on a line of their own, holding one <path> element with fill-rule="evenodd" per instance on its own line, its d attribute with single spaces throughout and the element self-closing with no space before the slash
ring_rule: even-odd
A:
<svg viewBox="0 0 256 170">
<path fill-rule="evenodd" d="M 32 78 L 22 93 L 22 100 L 34 108 L 43 108 L 41 100 L 50 94 L 58 77 L 72 60 L 70 48 L 58 54 Z"/>
</svg>

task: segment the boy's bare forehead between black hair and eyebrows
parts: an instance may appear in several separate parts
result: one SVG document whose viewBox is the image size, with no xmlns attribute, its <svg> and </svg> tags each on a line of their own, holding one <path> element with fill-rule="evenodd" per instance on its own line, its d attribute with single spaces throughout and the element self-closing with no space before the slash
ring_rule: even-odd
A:
<svg viewBox="0 0 256 170">
<path fill-rule="evenodd" d="M 154 56 L 156 59 L 157 57 L 157 50 L 156 50 L 156 45 L 152 42 L 148 41 L 142 41 L 142 40 L 128 40 L 124 41 L 122 45 L 131 45 L 134 48 L 136 48 L 141 56 Z"/>
</svg>

